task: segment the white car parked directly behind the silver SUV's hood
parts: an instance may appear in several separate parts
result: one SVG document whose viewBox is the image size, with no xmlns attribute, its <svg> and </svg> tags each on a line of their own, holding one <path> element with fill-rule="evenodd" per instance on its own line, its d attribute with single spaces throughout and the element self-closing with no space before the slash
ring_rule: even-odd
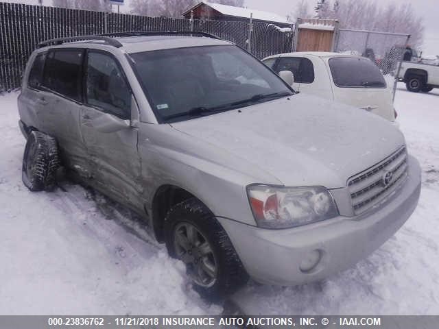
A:
<svg viewBox="0 0 439 329">
<path fill-rule="evenodd" d="M 368 58 L 342 53 L 281 53 L 262 60 L 276 73 L 291 71 L 293 88 L 395 121 L 393 86 Z"/>
</svg>

